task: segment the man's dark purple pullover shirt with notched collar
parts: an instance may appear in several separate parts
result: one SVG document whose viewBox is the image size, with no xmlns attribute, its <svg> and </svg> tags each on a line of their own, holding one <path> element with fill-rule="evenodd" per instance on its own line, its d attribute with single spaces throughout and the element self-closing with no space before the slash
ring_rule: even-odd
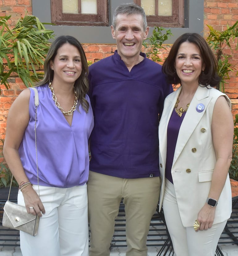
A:
<svg viewBox="0 0 238 256">
<path fill-rule="evenodd" d="M 120 178 L 159 176 L 158 114 L 172 92 L 146 58 L 129 72 L 117 51 L 89 67 L 94 129 L 90 170 Z"/>
</svg>

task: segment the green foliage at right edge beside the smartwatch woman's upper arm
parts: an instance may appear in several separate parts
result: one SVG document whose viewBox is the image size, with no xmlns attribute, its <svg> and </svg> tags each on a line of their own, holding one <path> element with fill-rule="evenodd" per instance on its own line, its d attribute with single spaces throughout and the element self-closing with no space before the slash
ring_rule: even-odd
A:
<svg viewBox="0 0 238 256">
<path fill-rule="evenodd" d="M 231 179 L 238 181 L 238 114 L 235 116 L 234 126 L 232 162 L 229 168 L 229 175 Z"/>
</svg>

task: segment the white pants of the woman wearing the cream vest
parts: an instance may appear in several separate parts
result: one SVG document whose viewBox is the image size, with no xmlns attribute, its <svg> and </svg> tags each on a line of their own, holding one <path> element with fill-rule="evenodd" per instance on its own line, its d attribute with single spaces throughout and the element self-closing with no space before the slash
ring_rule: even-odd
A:
<svg viewBox="0 0 238 256">
<path fill-rule="evenodd" d="M 186 200 L 186 195 L 184 195 L 184 200 Z M 167 179 L 163 209 L 176 256 L 215 255 L 218 240 L 227 221 L 214 224 L 207 230 L 197 232 L 194 231 L 193 227 L 184 227 L 178 210 L 174 186 Z"/>
</svg>

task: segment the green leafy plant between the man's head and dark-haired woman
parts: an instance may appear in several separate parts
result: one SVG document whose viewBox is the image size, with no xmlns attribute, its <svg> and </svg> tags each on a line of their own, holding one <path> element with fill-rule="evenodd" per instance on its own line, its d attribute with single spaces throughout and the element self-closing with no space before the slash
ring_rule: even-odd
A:
<svg viewBox="0 0 238 256">
<path fill-rule="evenodd" d="M 164 41 L 166 41 L 170 36 L 173 34 L 171 33 L 171 29 L 168 29 L 164 32 L 164 28 L 162 27 L 155 27 L 152 35 L 144 40 L 143 46 L 145 47 L 145 53 L 147 58 L 150 58 L 152 61 L 155 62 L 162 62 L 163 60 L 159 57 L 159 50 L 165 49 L 162 45 Z"/>
</svg>

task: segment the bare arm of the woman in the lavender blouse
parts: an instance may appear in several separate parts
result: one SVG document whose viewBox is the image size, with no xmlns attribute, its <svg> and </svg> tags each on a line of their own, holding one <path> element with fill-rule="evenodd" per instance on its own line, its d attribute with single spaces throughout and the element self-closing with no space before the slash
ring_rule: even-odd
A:
<svg viewBox="0 0 238 256">
<path fill-rule="evenodd" d="M 29 122 L 29 99 L 30 90 L 26 89 L 13 102 L 7 116 L 6 138 L 3 146 L 4 158 L 18 184 L 29 181 L 18 153 L 20 143 Z M 45 213 L 45 209 L 32 186 L 23 188 L 22 193 L 27 212 L 34 215 L 37 213 L 39 216 L 42 216 L 41 211 Z M 31 212 L 29 209 L 30 206 L 34 207 L 34 209 L 31 209 Z"/>
</svg>

